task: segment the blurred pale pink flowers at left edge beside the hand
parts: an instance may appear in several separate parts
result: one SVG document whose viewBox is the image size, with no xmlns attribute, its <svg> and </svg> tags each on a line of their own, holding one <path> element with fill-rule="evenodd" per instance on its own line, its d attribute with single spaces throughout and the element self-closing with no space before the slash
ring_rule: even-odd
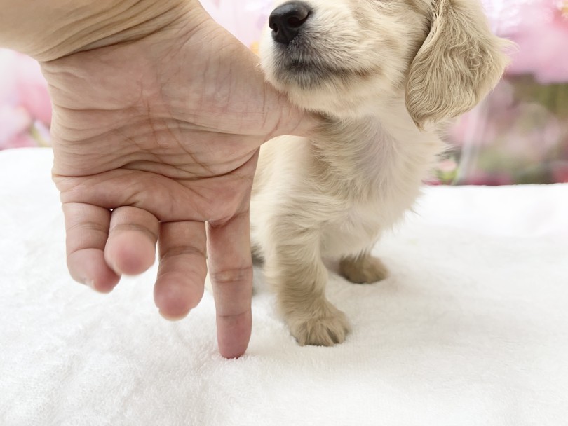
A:
<svg viewBox="0 0 568 426">
<path fill-rule="evenodd" d="M 39 64 L 0 49 L 0 149 L 37 146 L 32 134 L 44 137 L 50 121 L 51 102 Z"/>
</svg>

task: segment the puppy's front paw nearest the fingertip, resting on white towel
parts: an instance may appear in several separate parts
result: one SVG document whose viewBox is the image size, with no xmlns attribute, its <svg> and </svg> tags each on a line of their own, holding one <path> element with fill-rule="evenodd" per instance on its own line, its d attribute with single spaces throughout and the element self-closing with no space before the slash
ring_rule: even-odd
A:
<svg viewBox="0 0 568 426">
<path fill-rule="evenodd" d="M 290 332 L 302 346 L 333 346 L 343 343 L 351 330 L 346 315 L 327 303 L 316 316 L 295 312 L 288 316 Z"/>
</svg>

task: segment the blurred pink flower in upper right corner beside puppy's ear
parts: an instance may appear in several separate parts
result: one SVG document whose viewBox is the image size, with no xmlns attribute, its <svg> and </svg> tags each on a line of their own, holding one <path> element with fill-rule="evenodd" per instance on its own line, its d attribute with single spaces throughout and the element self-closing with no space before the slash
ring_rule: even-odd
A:
<svg viewBox="0 0 568 426">
<path fill-rule="evenodd" d="M 509 74 L 568 82 L 568 0 L 483 0 L 494 32 L 518 44 Z"/>
</svg>

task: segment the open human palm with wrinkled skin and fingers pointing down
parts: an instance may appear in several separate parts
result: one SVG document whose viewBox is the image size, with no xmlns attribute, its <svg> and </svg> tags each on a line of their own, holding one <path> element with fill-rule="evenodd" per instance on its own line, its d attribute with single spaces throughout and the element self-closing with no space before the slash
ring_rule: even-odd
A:
<svg viewBox="0 0 568 426">
<path fill-rule="evenodd" d="M 198 8 L 151 34 L 42 62 L 53 179 L 72 277 L 97 291 L 154 263 L 161 314 L 203 296 L 206 253 L 225 357 L 250 338 L 249 204 L 257 153 L 311 118 L 264 83 L 257 58 Z"/>
</svg>

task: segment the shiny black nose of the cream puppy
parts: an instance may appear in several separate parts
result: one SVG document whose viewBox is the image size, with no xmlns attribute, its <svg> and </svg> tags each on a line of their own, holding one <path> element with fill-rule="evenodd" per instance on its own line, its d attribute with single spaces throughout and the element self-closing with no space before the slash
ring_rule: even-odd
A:
<svg viewBox="0 0 568 426">
<path fill-rule="evenodd" d="M 298 35 L 310 14 L 311 8 L 302 1 L 290 1 L 278 6 L 269 17 L 272 39 L 277 43 L 290 43 Z"/>
</svg>

